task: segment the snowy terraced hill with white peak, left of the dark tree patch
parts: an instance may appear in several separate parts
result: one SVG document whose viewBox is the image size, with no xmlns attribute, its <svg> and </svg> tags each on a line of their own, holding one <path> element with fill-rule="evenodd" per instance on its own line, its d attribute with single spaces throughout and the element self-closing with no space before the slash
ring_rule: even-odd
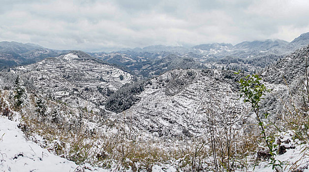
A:
<svg viewBox="0 0 309 172">
<path fill-rule="evenodd" d="M 33 80 L 35 89 L 46 97 L 97 112 L 111 92 L 132 80 L 129 73 L 115 66 L 73 53 L 21 66 L 17 71 Z"/>
</svg>

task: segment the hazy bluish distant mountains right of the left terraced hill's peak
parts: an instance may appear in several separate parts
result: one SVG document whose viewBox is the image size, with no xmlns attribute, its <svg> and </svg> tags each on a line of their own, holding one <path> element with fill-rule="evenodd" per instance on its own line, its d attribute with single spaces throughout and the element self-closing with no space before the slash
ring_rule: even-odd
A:
<svg viewBox="0 0 309 172">
<path fill-rule="evenodd" d="M 234 46 L 227 43 L 201 44 L 192 48 L 157 45 L 113 53 L 91 53 L 91 55 L 124 66 L 135 74 L 148 78 L 152 75 L 149 75 L 149 71 L 145 71 L 148 70 L 146 68 L 169 55 L 191 58 L 209 68 L 224 67 L 236 71 L 245 69 L 248 73 L 252 73 L 309 44 L 308 35 L 309 33 L 304 33 L 290 43 L 279 39 L 267 39 L 244 41 Z"/>
</svg>

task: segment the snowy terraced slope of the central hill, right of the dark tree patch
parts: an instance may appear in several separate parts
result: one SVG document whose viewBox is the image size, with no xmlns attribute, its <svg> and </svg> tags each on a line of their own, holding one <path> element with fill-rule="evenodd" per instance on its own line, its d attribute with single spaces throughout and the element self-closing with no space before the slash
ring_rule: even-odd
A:
<svg viewBox="0 0 309 172">
<path fill-rule="evenodd" d="M 123 114 L 141 131 L 163 138 L 205 136 L 209 124 L 205 109 L 228 104 L 229 111 L 245 112 L 239 102 L 239 76 L 221 70 L 176 69 L 151 80 L 141 98 Z"/>
</svg>

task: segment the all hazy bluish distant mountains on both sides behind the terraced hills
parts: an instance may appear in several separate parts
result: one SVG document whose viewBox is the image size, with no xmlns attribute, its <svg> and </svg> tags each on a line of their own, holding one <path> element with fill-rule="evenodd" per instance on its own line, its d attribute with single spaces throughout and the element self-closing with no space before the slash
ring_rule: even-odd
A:
<svg viewBox="0 0 309 172">
<path fill-rule="evenodd" d="M 232 61 L 243 63 L 236 68 L 250 69 L 252 73 L 260 67 L 265 67 L 277 59 L 294 52 L 307 44 L 309 33 L 303 33 L 292 42 L 283 40 L 263 40 L 263 41 L 244 41 L 236 45 L 228 43 L 201 44 L 191 48 L 182 46 L 154 45 L 144 48 L 123 49 L 119 52 L 89 53 L 93 57 L 102 59 L 111 64 L 118 64 L 135 74 L 144 77 L 151 77 L 147 72 L 142 72 L 144 66 L 155 63 L 162 57 L 174 54 L 180 57 L 193 58 L 196 61 L 206 63 L 208 67 L 228 67 L 235 68 L 235 64 L 226 63 L 226 58 L 233 58 Z M 17 42 L 0 43 L 0 69 L 20 64 L 30 64 L 42 60 L 46 57 L 56 57 L 68 51 L 57 51 L 46 49 L 38 45 L 22 44 Z M 238 59 L 235 59 L 238 58 Z M 250 58 L 249 60 L 247 60 Z M 222 63 L 222 59 L 223 62 Z M 261 61 L 262 62 L 258 62 Z"/>
</svg>

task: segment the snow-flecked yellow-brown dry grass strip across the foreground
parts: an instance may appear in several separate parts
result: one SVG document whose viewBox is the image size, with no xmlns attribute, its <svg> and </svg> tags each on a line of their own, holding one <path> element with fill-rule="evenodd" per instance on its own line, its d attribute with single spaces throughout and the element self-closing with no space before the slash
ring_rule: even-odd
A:
<svg viewBox="0 0 309 172">
<path fill-rule="evenodd" d="M 53 106 L 57 105 L 54 102 L 48 103 Z M 27 138 L 47 148 L 50 152 L 72 160 L 81 166 L 90 163 L 94 166 L 118 171 L 125 169 L 151 171 L 155 164 L 173 164 L 175 168 L 182 171 L 214 170 L 213 152 L 207 139 L 194 139 L 177 144 L 136 142 L 127 139 L 126 134 L 130 131 L 124 131 L 123 123 L 113 124 L 110 121 L 107 123 L 119 132 L 102 133 L 96 131 L 90 133 L 84 125 L 69 125 L 66 121 L 62 121 L 61 124 L 48 120 L 42 121 L 33 110 L 35 104 L 33 95 L 30 97 L 29 104 L 21 111 L 19 126 Z M 67 115 L 75 113 L 65 105 L 62 106 L 62 111 Z M 91 118 L 92 114 L 84 116 Z M 260 141 L 260 138 L 254 134 L 256 133 L 254 129 L 251 127 L 251 130 L 247 130 L 247 134 L 243 137 L 234 136 L 234 139 L 229 143 L 230 150 L 226 149 L 224 140 L 217 140 L 217 162 L 220 168 L 224 170 L 228 158 L 229 163 L 233 164 L 233 169 L 248 169 L 253 160 L 248 160 L 247 157 L 255 153 L 256 143 Z M 35 135 L 39 135 L 43 139 L 38 141 L 36 137 L 33 137 Z"/>
</svg>

